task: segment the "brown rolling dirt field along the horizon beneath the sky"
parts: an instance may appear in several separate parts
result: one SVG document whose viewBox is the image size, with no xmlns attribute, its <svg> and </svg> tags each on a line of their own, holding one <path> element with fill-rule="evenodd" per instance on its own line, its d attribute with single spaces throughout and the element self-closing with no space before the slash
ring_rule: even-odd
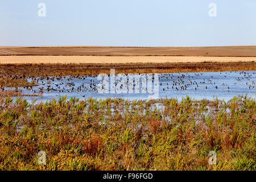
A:
<svg viewBox="0 0 256 182">
<path fill-rule="evenodd" d="M 224 47 L 0 47 L 0 55 L 256 57 L 256 46 Z"/>
</svg>

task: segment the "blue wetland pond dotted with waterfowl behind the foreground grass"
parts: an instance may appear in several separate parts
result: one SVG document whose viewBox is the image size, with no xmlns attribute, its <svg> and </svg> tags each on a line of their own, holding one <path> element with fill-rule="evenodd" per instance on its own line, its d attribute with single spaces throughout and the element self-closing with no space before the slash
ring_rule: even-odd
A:
<svg viewBox="0 0 256 182">
<path fill-rule="evenodd" d="M 22 89 L 23 94 L 38 94 L 41 92 L 39 96 L 23 96 L 28 101 L 36 99 L 36 102 L 51 100 L 53 97 L 59 99 L 60 96 L 65 95 L 68 99 L 75 96 L 80 99 L 92 97 L 98 99 L 147 100 L 148 96 L 154 94 L 152 92 L 148 93 L 147 86 L 145 86 L 148 85 L 148 80 L 151 79 L 152 89 L 156 89 L 155 85 L 158 84 L 158 98 L 167 97 L 181 100 L 182 97 L 189 96 L 196 100 L 203 98 L 213 100 L 214 97 L 217 97 L 219 100 L 228 101 L 238 95 L 245 96 L 247 94 L 249 97 L 255 97 L 255 71 L 159 73 L 158 83 L 156 82 L 156 76 L 152 76 L 152 74 L 145 75 L 147 75 L 146 80 L 135 80 L 136 77 L 142 77 L 143 74 L 133 75 L 135 79 L 131 81 L 130 85 L 130 74 L 125 75 L 127 80 L 124 81 L 118 75 L 115 75 L 114 93 L 110 93 L 110 75 L 106 75 L 105 80 L 104 77 L 102 79 L 98 78 L 98 75 L 34 77 L 28 78 L 28 81 L 36 81 L 37 86 L 32 86 L 32 88 L 18 87 L 18 89 Z M 106 82 L 109 82 L 109 84 L 106 84 Z M 127 83 L 126 87 L 125 83 Z M 139 93 L 135 93 L 135 85 L 139 85 L 139 89 L 137 89 Z M 126 88 L 127 93 L 118 93 L 118 86 L 121 89 Z M 133 93 L 129 93 L 129 86 L 133 89 Z M 109 93 L 100 93 L 99 90 L 102 91 L 103 88 L 109 88 Z"/>
</svg>

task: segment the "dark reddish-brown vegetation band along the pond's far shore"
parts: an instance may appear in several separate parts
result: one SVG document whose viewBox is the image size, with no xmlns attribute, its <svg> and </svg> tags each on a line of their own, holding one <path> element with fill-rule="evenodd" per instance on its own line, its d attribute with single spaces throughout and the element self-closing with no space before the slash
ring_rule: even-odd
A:
<svg viewBox="0 0 256 182">
<path fill-rule="evenodd" d="M 115 73 L 246 71 L 256 70 L 256 63 L 1 64 L 0 77 L 85 75 L 110 73 L 110 69 Z"/>
</svg>

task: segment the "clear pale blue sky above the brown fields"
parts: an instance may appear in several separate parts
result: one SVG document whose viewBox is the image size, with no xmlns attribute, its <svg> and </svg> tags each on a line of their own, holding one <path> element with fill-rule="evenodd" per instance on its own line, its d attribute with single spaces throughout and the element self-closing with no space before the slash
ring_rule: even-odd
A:
<svg viewBox="0 0 256 182">
<path fill-rule="evenodd" d="M 0 46 L 245 46 L 256 0 L 0 0 L 0 23 Z"/>
</svg>

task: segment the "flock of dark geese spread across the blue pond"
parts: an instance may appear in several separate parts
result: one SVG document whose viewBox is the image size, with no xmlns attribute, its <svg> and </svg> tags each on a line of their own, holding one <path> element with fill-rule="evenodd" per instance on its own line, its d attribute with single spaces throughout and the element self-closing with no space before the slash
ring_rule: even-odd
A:
<svg viewBox="0 0 256 182">
<path fill-rule="evenodd" d="M 214 73 L 214 74 L 211 74 Z M 233 82 L 226 82 L 226 79 L 230 74 L 236 74 L 236 77 Z M 152 75 L 152 74 L 151 74 Z M 212 75 L 212 76 L 211 76 Z M 167 90 L 208 90 L 214 89 L 218 90 L 229 90 L 235 88 L 238 83 L 243 82 L 245 84 L 242 89 L 255 89 L 256 82 L 254 82 L 255 73 L 250 71 L 241 71 L 241 72 L 204 72 L 204 73 L 161 73 L 159 74 L 159 91 L 167 91 Z M 30 77 L 28 80 L 33 80 L 36 82 L 37 86 L 25 86 L 24 89 L 30 90 L 32 93 L 72 93 L 72 92 L 98 92 L 105 91 L 104 81 L 97 80 L 98 75 L 77 75 L 77 76 L 43 76 L 43 77 Z M 125 75 L 127 77 L 127 84 L 123 82 L 123 80 L 118 80 L 115 78 L 115 89 L 127 89 L 133 88 L 134 86 L 140 84 L 139 89 L 142 91 L 146 91 L 145 87 L 148 81 L 146 80 L 133 80 L 133 82 L 129 82 L 128 74 Z M 137 74 L 137 76 L 142 76 L 141 74 Z M 108 75 L 110 78 L 110 75 Z M 151 77 L 152 83 L 154 82 L 154 75 Z M 110 80 L 110 79 L 108 79 Z M 106 82 L 106 80 L 105 80 Z M 130 87 L 130 86 L 131 87 Z M 119 86 L 119 88 L 118 88 Z M 144 87 L 143 87 L 144 86 Z M 241 86 L 241 85 L 240 85 Z M 137 88 L 138 89 L 138 88 Z M 0 91 L 4 90 L 3 86 L 0 85 Z M 85 97 L 85 94 L 82 95 Z"/>
</svg>

